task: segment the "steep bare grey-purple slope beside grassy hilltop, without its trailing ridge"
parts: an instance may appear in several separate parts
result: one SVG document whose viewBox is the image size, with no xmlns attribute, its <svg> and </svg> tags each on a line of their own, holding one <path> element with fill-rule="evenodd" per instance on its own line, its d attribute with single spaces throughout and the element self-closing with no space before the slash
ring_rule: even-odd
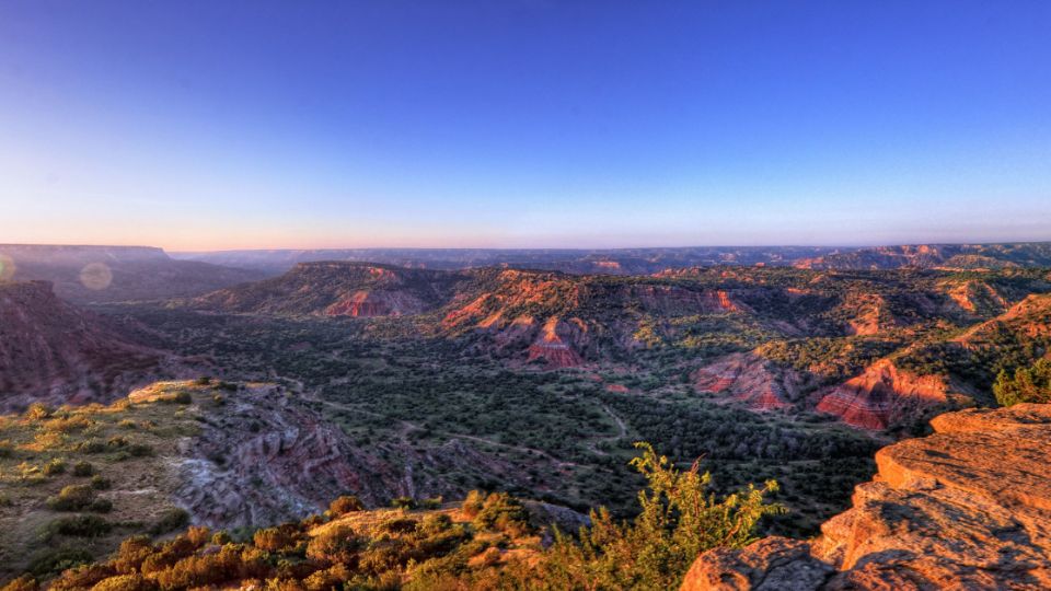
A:
<svg viewBox="0 0 1051 591">
<path fill-rule="evenodd" d="M 299 519 L 347 491 L 377 505 L 399 474 L 274 385 L 224 396 L 172 460 L 173 499 L 197 523 L 236 528 Z M 132 393 L 131 401 L 141 401 Z"/>
</svg>

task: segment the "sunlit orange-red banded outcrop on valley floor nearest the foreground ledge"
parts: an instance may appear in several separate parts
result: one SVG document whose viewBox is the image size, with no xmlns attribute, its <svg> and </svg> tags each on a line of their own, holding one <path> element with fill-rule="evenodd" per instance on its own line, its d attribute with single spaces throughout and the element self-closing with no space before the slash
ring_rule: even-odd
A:
<svg viewBox="0 0 1051 591">
<path fill-rule="evenodd" d="M 948 384 L 937 375 L 912 375 L 889 359 L 825 392 L 817 409 L 864 429 L 887 429 L 922 417 L 950 402 Z"/>
</svg>

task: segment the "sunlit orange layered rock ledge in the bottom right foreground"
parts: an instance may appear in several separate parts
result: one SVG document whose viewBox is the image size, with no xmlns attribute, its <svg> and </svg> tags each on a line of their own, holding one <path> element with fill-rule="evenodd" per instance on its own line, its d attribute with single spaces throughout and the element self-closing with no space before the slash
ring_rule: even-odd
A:
<svg viewBox="0 0 1051 591">
<path fill-rule="evenodd" d="M 812 541 L 701 555 L 683 590 L 1051 589 L 1051 405 L 936 417 Z"/>
</svg>

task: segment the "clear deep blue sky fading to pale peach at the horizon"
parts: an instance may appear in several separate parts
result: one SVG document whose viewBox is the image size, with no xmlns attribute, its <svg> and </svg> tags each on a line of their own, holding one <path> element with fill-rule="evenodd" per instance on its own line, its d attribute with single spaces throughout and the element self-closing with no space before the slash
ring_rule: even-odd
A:
<svg viewBox="0 0 1051 591">
<path fill-rule="evenodd" d="M 0 243 L 1051 240 L 1051 2 L 0 2 Z"/>
</svg>

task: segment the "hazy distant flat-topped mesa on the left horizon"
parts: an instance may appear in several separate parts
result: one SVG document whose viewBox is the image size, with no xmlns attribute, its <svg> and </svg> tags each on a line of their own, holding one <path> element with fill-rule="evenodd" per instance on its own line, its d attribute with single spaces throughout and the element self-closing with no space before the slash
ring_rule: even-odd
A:
<svg viewBox="0 0 1051 591">
<path fill-rule="evenodd" d="M 157 300 L 262 279 L 255 270 L 175 260 L 146 246 L 0 245 L 0 278 L 44 280 L 77 303 Z"/>
</svg>

